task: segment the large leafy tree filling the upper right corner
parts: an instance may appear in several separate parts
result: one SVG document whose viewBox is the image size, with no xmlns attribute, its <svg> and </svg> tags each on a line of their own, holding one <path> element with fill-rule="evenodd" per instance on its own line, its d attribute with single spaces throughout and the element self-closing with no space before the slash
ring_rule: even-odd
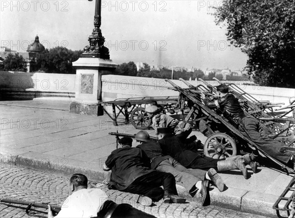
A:
<svg viewBox="0 0 295 218">
<path fill-rule="evenodd" d="M 295 87 L 294 0 L 224 0 L 215 22 L 248 54 L 246 70 L 260 85 Z"/>
</svg>

